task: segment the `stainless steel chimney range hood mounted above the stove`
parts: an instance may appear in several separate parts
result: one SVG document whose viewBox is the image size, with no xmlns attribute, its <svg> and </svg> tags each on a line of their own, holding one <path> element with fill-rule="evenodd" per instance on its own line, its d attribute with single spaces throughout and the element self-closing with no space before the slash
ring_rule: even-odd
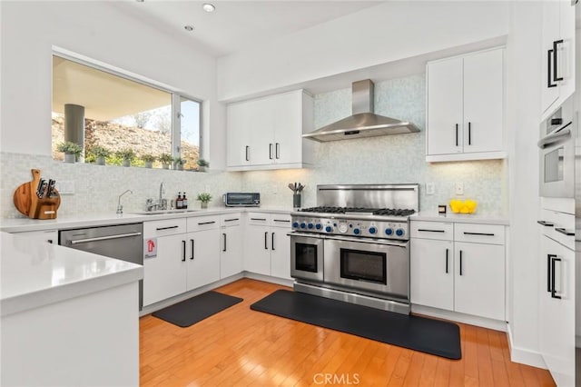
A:
<svg viewBox="0 0 581 387">
<path fill-rule="evenodd" d="M 353 82 L 351 90 L 353 95 L 352 115 L 309 134 L 302 134 L 302 137 L 323 143 L 351 138 L 419 132 L 418 127 L 414 124 L 373 113 L 374 84 L 370 79 Z"/>
</svg>

